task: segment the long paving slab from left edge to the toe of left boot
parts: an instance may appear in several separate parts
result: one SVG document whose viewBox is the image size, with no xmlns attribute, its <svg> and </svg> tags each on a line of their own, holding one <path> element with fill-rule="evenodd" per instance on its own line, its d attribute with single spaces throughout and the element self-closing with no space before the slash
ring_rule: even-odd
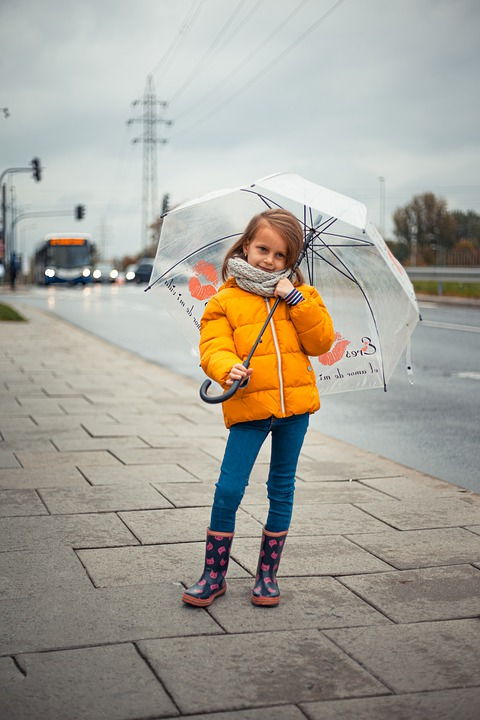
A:
<svg viewBox="0 0 480 720">
<path fill-rule="evenodd" d="M 220 626 L 192 612 L 177 583 L 78 591 L 47 589 L 35 597 L 0 600 L 0 653 L 18 654 L 146 638 L 213 635 Z"/>
</svg>

